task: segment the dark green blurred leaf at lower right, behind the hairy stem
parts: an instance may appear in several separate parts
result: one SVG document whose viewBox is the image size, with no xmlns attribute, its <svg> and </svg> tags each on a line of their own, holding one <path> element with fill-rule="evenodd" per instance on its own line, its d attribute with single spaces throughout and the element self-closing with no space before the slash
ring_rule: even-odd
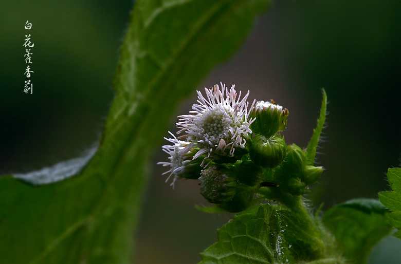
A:
<svg viewBox="0 0 401 264">
<path fill-rule="evenodd" d="M 375 199 L 355 199 L 329 209 L 323 223 L 350 263 L 366 263 L 373 246 L 392 230 L 386 212 Z"/>
</svg>

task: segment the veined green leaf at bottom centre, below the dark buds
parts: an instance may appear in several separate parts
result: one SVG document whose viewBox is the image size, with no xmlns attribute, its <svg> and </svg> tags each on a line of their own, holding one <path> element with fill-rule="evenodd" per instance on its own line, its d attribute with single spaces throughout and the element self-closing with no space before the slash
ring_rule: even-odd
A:
<svg viewBox="0 0 401 264">
<path fill-rule="evenodd" d="M 281 263 L 286 247 L 280 232 L 276 209 L 261 204 L 257 213 L 236 215 L 218 229 L 218 241 L 200 254 L 200 263 Z"/>
</svg>

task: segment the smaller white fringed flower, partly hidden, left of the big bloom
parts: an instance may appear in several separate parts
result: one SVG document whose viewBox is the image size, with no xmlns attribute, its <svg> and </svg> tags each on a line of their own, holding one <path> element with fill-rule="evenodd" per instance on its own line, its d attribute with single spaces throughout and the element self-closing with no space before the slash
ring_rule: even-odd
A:
<svg viewBox="0 0 401 264">
<path fill-rule="evenodd" d="M 195 171 L 198 171 L 200 173 L 200 164 L 192 162 L 195 150 L 188 150 L 188 152 L 184 155 L 180 154 L 180 150 L 183 150 L 190 143 L 178 140 L 170 131 L 169 133 L 171 136 L 173 136 L 173 138 L 165 139 L 173 143 L 173 145 L 164 145 L 162 146 L 162 149 L 164 152 L 170 155 L 170 162 L 158 162 L 157 164 L 170 166 L 170 169 L 162 175 L 170 173 L 169 177 L 166 179 L 166 182 L 170 179 L 172 175 L 174 175 L 173 182 L 170 184 L 174 188 L 175 181 L 184 178 L 185 176 L 188 176 L 188 173 L 191 172 L 191 167 L 195 166 Z M 198 167 L 198 169 L 196 168 L 196 166 Z"/>
</svg>

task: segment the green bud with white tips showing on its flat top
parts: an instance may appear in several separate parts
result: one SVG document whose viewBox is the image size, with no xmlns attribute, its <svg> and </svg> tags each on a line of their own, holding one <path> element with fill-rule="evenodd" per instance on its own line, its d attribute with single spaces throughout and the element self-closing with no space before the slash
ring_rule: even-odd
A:
<svg viewBox="0 0 401 264">
<path fill-rule="evenodd" d="M 270 102 L 259 101 L 251 109 L 249 116 L 251 119 L 256 118 L 250 125 L 252 132 L 262 134 L 266 138 L 270 138 L 278 131 L 283 131 L 287 126 L 288 110 L 280 105 Z"/>
</svg>

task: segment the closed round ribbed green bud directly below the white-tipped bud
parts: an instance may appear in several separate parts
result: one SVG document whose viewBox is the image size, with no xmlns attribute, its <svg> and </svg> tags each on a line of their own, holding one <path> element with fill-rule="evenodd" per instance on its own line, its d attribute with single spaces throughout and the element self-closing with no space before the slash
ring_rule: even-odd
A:
<svg viewBox="0 0 401 264">
<path fill-rule="evenodd" d="M 252 138 L 249 156 L 257 165 L 273 168 L 283 161 L 286 148 L 284 138 L 272 136 L 266 139 L 264 136 L 257 134 Z"/>
</svg>

